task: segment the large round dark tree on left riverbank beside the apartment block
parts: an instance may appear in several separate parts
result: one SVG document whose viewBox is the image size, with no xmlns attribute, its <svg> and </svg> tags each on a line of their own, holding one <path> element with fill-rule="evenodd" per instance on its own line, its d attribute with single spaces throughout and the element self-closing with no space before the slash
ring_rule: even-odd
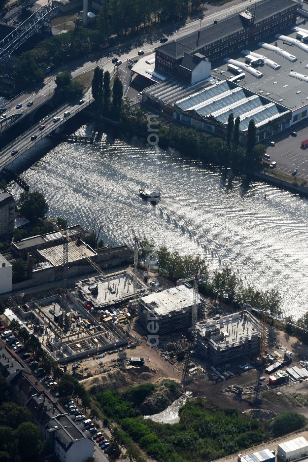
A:
<svg viewBox="0 0 308 462">
<path fill-rule="evenodd" d="M 18 207 L 20 214 L 32 223 L 44 218 L 49 208 L 44 195 L 39 191 L 23 191 L 19 196 Z"/>
</svg>

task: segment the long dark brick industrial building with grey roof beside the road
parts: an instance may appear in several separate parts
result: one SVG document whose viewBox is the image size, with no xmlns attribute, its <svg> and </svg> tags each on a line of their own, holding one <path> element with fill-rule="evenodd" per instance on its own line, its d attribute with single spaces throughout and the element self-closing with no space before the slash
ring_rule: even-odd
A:
<svg viewBox="0 0 308 462">
<path fill-rule="evenodd" d="M 199 81 L 206 61 L 226 56 L 295 24 L 296 13 L 297 4 L 292 0 L 265 0 L 252 5 L 249 10 L 158 47 L 155 70 L 189 83 Z"/>
</svg>

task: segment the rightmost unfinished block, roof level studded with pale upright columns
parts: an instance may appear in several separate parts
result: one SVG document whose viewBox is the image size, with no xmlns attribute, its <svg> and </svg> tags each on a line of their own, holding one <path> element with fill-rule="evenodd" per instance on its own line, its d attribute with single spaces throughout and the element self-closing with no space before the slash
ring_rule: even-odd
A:
<svg viewBox="0 0 308 462">
<path fill-rule="evenodd" d="M 247 310 L 196 324 L 197 348 L 215 364 L 259 355 L 260 321 Z"/>
</svg>

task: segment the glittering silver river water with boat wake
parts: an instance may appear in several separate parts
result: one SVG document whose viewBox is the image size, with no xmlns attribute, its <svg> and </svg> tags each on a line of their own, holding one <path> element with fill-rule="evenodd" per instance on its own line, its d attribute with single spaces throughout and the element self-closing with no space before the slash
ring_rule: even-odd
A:
<svg viewBox="0 0 308 462">
<path fill-rule="evenodd" d="M 11 164 L 22 171 L 29 158 L 46 153 L 21 176 L 45 195 L 51 217 L 88 229 L 102 221 L 102 238 L 110 244 L 132 244 L 133 226 L 157 246 L 205 256 L 211 268 L 232 267 L 245 286 L 278 288 L 285 315 L 307 310 L 306 199 L 137 137 L 97 133 L 94 123 L 75 133 L 96 133 L 99 141 L 54 147 L 45 139 Z M 159 189 L 159 205 L 142 201 L 139 188 Z"/>
</svg>

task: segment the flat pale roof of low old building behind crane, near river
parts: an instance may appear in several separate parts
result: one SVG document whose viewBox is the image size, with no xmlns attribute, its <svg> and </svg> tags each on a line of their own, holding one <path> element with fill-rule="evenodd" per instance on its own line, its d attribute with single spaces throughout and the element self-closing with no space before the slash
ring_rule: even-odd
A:
<svg viewBox="0 0 308 462">
<path fill-rule="evenodd" d="M 62 237 L 62 236 L 61 236 Z M 47 249 L 37 251 L 45 261 L 52 266 L 62 265 L 63 262 L 63 244 L 55 245 Z M 83 258 L 93 257 L 97 253 L 83 241 L 70 241 L 68 243 L 68 263 L 82 260 Z"/>
</svg>

